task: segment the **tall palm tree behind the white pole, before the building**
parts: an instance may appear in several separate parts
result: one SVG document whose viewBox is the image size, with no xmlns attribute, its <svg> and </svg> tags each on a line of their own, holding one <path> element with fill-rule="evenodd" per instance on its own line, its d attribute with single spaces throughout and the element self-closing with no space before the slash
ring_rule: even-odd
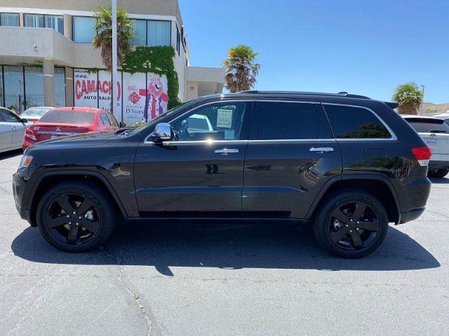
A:
<svg viewBox="0 0 449 336">
<path fill-rule="evenodd" d="M 111 74 L 111 100 L 114 94 L 114 78 L 112 78 L 112 8 L 100 7 L 94 13 L 95 30 L 97 35 L 93 38 L 94 49 L 101 49 L 101 59 L 107 71 Z M 128 18 L 128 13 L 123 8 L 117 8 L 117 60 L 122 64 L 123 56 L 131 51 L 130 41 L 134 27 Z M 111 112 L 113 110 L 111 101 Z"/>
</svg>

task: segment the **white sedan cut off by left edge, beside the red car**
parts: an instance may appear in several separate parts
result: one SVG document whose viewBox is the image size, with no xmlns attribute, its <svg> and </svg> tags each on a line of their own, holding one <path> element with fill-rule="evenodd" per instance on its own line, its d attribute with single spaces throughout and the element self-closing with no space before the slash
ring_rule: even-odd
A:
<svg viewBox="0 0 449 336">
<path fill-rule="evenodd" d="M 7 108 L 0 108 L 0 152 L 22 148 L 25 129 L 31 125 Z"/>
</svg>

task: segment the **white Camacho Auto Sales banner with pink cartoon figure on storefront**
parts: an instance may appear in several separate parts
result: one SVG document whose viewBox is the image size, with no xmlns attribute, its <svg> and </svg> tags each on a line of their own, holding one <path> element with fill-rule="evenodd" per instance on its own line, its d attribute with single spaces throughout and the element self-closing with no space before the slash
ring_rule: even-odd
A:
<svg viewBox="0 0 449 336">
<path fill-rule="evenodd" d="M 110 109 L 110 73 L 74 70 L 75 106 Z M 117 81 L 118 106 L 114 115 L 126 125 L 150 121 L 167 111 L 167 76 L 154 73 L 122 73 Z M 122 95 L 123 92 L 123 95 Z M 122 110 L 123 107 L 123 110 Z"/>
</svg>

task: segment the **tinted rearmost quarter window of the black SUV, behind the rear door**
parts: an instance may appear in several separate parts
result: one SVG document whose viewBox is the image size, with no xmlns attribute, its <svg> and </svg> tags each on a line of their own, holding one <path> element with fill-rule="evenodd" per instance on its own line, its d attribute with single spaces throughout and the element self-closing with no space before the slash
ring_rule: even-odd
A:
<svg viewBox="0 0 449 336">
<path fill-rule="evenodd" d="M 389 139 L 392 135 L 373 112 L 366 108 L 323 104 L 335 138 Z"/>
</svg>

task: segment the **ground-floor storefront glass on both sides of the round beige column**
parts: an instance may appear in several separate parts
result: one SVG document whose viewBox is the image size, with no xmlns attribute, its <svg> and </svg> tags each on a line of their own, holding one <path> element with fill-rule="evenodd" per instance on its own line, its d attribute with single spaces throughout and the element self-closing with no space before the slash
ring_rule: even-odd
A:
<svg viewBox="0 0 449 336">
<path fill-rule="evenodd" d="M 39 66 L 0 65 L 0 105 L 17 113 L 44 106 L 44 74 Z M 3 71 L 3 73 L 2 73 Z M 2 81 L 1 79 L 4 78 Z M 66 106 L 65 68 L 54 68 L 55 107 Z"/>
</svg>

